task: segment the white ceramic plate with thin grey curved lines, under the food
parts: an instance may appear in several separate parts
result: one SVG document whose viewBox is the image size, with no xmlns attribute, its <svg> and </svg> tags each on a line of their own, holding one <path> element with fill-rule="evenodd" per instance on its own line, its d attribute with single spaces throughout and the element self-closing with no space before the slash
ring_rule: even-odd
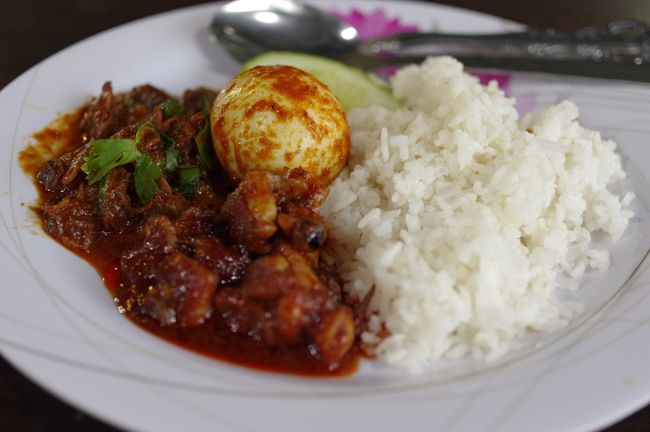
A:
<svg viewBox="0 0 650 432">
<path fill-rule="evenodd" d="M 328 2 L 421 29 L 499 31 L 503 20 L 443 6 Z M 441 365 L 411 376 L 370 361 L 354 376 L 266 374 L 181 350 L 115 310 L 98 275 L 46 237 L 16 163 L 30 135 L 97 94 L 145 82 L 172 93 L 219 87 L 238 69 L 207 39 L 216 6 L 179 10 L 102 33 L 36 65 L 0 93 L 0 349 L 34 381 L 115 425 L 140 431 L 583 431 L 650 400 L 650 87 L 518 74 L 530 107 L 574 99 L 583 122 L 616 139 L 636 217 L 612 266 L 581 280 L 587 305 L 568 328 L 494 364 Z"/>
</svg>

